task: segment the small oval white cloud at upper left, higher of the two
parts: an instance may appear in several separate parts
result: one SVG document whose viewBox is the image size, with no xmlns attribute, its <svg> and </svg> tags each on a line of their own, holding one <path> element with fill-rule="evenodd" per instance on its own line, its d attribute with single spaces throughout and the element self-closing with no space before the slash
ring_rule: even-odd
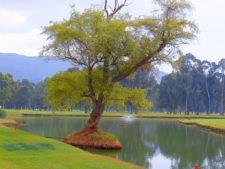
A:
<svg viewBox="0 0 225 169">
<path fill-rule="evenodd" d="M 0 27 L 15 28 L 26 23 L 27 18 L 15 11 L 0 9 Z"/>
</svg>

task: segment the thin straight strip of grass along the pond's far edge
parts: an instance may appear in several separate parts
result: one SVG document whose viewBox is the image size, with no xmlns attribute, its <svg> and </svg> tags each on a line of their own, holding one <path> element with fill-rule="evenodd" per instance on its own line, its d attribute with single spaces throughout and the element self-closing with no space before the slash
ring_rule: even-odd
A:
<svg viewBox="0 0 225 169">
<path fill-rule="evenodd" d="M 36 111 L 36 110 L 5 110 L 8 116 L 78 116 L 78 117 L 88 117 L 89 113 L 84 113 L 82 111 Z M 118 112 L 105 112 L 103 117 L 123 117 L 126 115 L 131 115 L 129 113 L 118 113 Z M 225 116 L 219 114 L 167 114 L 167 113 L 138 113 L 132 114 L 137 118 L 162 118 L 162 119 L 225 119 Z"/>
</svg>

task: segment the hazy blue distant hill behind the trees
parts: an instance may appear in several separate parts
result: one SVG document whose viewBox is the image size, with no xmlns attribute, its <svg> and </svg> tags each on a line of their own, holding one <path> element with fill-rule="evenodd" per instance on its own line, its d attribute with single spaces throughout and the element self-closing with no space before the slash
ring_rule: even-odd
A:
<svg viewBox="0 0 225 169">
<path fill-rule="evenodd" d="M 14 53 L 0 53 L 0 72 L 13 75 L 15 80 L 28 79 L 36 83 L 70 67 L 72 64 L 65 61 L 38 56 L 27 57 Z M 155 73 L 158 83 L 164 75 L 165 73 L 160 71 Z"/>
</svg>

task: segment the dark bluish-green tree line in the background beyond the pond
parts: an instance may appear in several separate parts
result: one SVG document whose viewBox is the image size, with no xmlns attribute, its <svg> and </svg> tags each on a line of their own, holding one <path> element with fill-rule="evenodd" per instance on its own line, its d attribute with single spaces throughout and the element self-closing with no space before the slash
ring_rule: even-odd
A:
<svg viewBox="0 0 225 169">
<path fill-rule="evenodd" d="M 225 59 L 218 63 L 200 61 L 192 54 L 180 59 L 178 69 L 165 75 L 158 84 L 154 73 L 138 71 L 132 77 L 119 83 L 128 88 L 141 88 L 147 99 L 153 103 L 151 111 L 168 113 L 206 112 L 224 114 Z M 68 70 L 78 71 L 78 70 Z M 0 73 L 0 105 L 13 109 L 49 109 L 45 99 L 44 82 L 28 80 L 14 81 L 9 74 Z M 88 111 L 86 103 L 79 103 L 73 109 Z M 118 110 L 115 106 L 110 110 Z M 125 111 L 135 112 L 129 102 Z"/>
</svg>

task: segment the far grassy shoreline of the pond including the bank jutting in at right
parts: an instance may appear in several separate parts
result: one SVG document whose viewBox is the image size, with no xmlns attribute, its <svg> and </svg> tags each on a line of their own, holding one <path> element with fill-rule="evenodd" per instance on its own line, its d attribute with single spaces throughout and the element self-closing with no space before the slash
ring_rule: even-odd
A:
<svg viewBox="0 0 225 169">
<path fill-rule="evenodd" d="M 89 113 L 84 112 L 68 112 L 68 111 L 34 111 L 34 110 L 6 110 L 8 118 L 12 117 L 81 117 L 88 118 Z M 175 120 L 184 125 L 193 125 L 205 130 L 210 130 L 214 133 L 225 134 L 225 116 L 219 114 L 211 115 L 184 115 L 184 114 L 166 114 L 166 113 L 142 113 L 142 114 L 127 114 L 117 112 L 105 112 L 103 118 L 123 118 L 132 116 L 137 119 L 155 119 L 155 120 Z M 220 122 L 221 120 L 221 122 Z M 219 123 L 218 123 L 219 121 Z"/>
</svg>

